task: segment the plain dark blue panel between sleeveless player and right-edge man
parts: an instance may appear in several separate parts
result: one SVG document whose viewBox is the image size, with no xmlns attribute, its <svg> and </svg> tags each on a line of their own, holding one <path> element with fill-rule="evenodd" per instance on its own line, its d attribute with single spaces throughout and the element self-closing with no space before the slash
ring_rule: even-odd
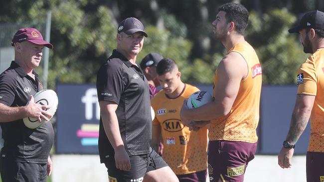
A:
<svg viewBox="0 0 324 182">
<path fill-rule="evenodd" d="M 289 131 L 296 102 L 297 86 L 263 86 L 261 93 L 261 118 L 259 149 L 261 154 L 279 154 Z M 306 154 L 310 123 L 298 140 L 295 154 Z"/>
</svg>

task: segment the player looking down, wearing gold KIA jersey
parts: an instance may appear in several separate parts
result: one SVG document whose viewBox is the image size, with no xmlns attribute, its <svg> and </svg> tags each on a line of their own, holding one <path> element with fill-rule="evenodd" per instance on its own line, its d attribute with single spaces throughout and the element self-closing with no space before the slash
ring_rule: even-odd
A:
<svg viewBox="0 0 324 182">
<path fill-rule="evenodd" d="M 157 149 L 162 136 L 162 157 L 180 182 L 206 182 L 207 127 L 202 127 L 199 131 L 189 131 L 180 120 L 183 100 L 199 89 L 181 81 L 181 73 L 171 59 L 162 59 L 157 73 L 162 91 L 151 101 L 156 111 L 152 127 L 152 146 Z"/>
</svg>

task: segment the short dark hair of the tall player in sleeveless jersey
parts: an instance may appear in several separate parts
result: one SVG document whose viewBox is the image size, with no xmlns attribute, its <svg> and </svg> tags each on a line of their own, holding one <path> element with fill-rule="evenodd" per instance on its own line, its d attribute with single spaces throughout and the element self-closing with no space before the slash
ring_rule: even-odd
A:
<svg viewBox="0 0 324 182">
<path fill-rule="evenodd" d="M 218 8 L 219 11 L 225 11 L 225 17 L 228 22 L 233 21 L 237 33 L 244 35 L 244 31 L 248 25 L 249 11 L 238 3 L 226 3 Z"/>
</svg>

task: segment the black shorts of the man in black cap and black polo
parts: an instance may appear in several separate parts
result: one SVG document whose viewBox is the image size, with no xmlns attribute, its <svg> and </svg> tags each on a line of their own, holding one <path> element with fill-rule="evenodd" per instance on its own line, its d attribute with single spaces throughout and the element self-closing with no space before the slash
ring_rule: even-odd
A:
<svg viewBox="0 0 324 182">
<path fill-rule="evenodd" d="M 146 155 L 130 156 L 131 170 L 121 171 L 116 169 L 115 158 L 105 162 L 108 171 L 109 182 L 142 182 L 146 173 L 154 171 L 167 164 L 162 157 L 153 149 Z"/>
</svg>

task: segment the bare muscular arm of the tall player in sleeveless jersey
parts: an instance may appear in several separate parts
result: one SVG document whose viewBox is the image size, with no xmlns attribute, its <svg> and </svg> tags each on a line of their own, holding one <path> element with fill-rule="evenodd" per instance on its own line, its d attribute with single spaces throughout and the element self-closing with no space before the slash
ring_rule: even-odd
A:
<svg viewBox="0 0 324 182">
<path fill-rule="evenodd" d="M 193 110 L 182 106 L 181 120 L 206 121 L 227 115 L 231 111 L 240 83 L 247 74 L 247 63 L 239 53 L 231 52 L 226 55 L 217 68 L 215 100 Z"/>
</svg>

